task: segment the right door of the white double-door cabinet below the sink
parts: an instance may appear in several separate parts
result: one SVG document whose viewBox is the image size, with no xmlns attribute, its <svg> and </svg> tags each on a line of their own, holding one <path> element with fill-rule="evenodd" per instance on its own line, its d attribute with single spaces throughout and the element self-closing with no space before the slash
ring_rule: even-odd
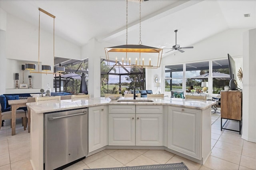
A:
<svg viewBox="0 0 256 170">
<path fill-rule="evenodd" d="M 162 117 L 162 114 L 136 114 L 136 145 L 163 145 Z"/>
</svg>

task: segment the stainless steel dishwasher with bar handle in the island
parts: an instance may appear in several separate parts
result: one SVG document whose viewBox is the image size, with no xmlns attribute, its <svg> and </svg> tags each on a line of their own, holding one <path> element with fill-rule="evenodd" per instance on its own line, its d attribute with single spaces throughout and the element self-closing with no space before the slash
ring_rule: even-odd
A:
<svg viewBox="0 0 256 170">
<path fill-rule="evenodd" d="M 88 154 L 88 109 L 44 114 L 44 169 L 63 169 Z"/>
</svg>

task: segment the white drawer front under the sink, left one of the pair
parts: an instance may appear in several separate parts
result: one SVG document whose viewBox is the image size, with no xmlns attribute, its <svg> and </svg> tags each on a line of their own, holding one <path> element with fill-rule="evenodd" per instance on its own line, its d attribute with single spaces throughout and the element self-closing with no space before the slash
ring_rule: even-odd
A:
<svg viewBox="0 0 256 170">
<path fill-rule="evenodd" d="M 109 105 L 108 113 L 135 113 L 135 105 Z"/>
</svg>

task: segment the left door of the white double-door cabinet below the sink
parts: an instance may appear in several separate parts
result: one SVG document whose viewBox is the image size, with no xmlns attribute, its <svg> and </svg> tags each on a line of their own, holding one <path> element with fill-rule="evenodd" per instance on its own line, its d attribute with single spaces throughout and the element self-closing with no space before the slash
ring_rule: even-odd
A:
<svg viewBox="0 0 256 170">
<path fill-rule="evenodd" d="M 135 114 L 109 114 L 109 145 L 135 145 Z"/>
</svg>

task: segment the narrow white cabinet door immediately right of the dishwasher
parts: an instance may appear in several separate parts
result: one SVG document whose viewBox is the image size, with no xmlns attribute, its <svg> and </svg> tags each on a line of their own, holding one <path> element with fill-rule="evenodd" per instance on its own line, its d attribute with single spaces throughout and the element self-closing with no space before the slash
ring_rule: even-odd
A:
<svg viewBox="0 0 256 170">
<path fill-rule="evenodd" d="M 107 106 L 89 107 L 88 151 L 92 152 L 108 144 Z"/>
</svg>

